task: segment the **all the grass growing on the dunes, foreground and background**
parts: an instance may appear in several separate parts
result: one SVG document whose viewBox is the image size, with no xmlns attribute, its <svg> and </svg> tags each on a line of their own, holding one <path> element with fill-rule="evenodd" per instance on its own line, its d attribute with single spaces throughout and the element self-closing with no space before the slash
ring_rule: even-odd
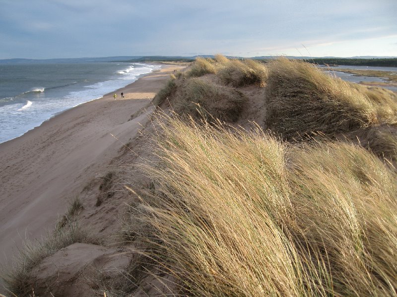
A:
<svg viewBox="0 0 397 297">
<path fill-rule="evenodd" d="M 265 111 L 244 130 L 232 123 L 248 102 Z M 125 278 L 101 280 L 108 296 L 156 277 L 178 296 L 396 296 L 395 93 L 301 60 L 216 55 L 171 75 L 153 104 L 165 111 L 140 138 L 153 158 L 132 165 L 150 182 L 132 190 L 119 232 L 134 258 Z M 102 177 L 97 206 L 115 178 Z M 52 235 L 22 251 L 12 292 L 31 289 L 44 257 L 96 242 L 73 220 L 81 208 L 76 198 Z"/>
</svg>

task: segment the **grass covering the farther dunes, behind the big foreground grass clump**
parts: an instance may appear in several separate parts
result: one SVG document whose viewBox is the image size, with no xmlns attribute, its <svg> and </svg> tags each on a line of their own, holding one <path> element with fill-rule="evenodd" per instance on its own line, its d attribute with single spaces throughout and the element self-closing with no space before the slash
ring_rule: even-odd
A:
<svg viewBox="0 0 397 297">
<path fill-rule="evenodd" d="M 392 91 L 345 82 L 302 60 L 285 58 L 263 64 L 216 55 L 214 59 L 197 59 L 192 69 L 197 75 L 212 76 L 193 80 L 188 72 L 173 77 L 154 102 L 169 98 L 178 114 L 196 118 L 204 114 L 233 122 L 248 102 L 239 99 L 236 91 L 240 90 L 236 88 L 265 86 L 263 128 L 287 140 L 312 137 L 318 132 L 331 138 L 359 137 L 378 156 L 396 159 L 395 136 L 386 127 L 397 124 L 397 96 Z M 374 127 L 380 130 L 375 139 L 370 139 Z"/>
</svg>

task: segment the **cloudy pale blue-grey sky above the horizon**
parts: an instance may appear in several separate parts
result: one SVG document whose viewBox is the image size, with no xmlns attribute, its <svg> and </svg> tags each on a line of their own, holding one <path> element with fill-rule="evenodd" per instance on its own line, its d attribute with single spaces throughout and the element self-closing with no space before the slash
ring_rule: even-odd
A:
<svg viewBox="0 0 397 297">
<path fill-rule="evenodd" d="M 0 0 L 0 59 L 397 56 L 397 0 Z"/>
</svg>

